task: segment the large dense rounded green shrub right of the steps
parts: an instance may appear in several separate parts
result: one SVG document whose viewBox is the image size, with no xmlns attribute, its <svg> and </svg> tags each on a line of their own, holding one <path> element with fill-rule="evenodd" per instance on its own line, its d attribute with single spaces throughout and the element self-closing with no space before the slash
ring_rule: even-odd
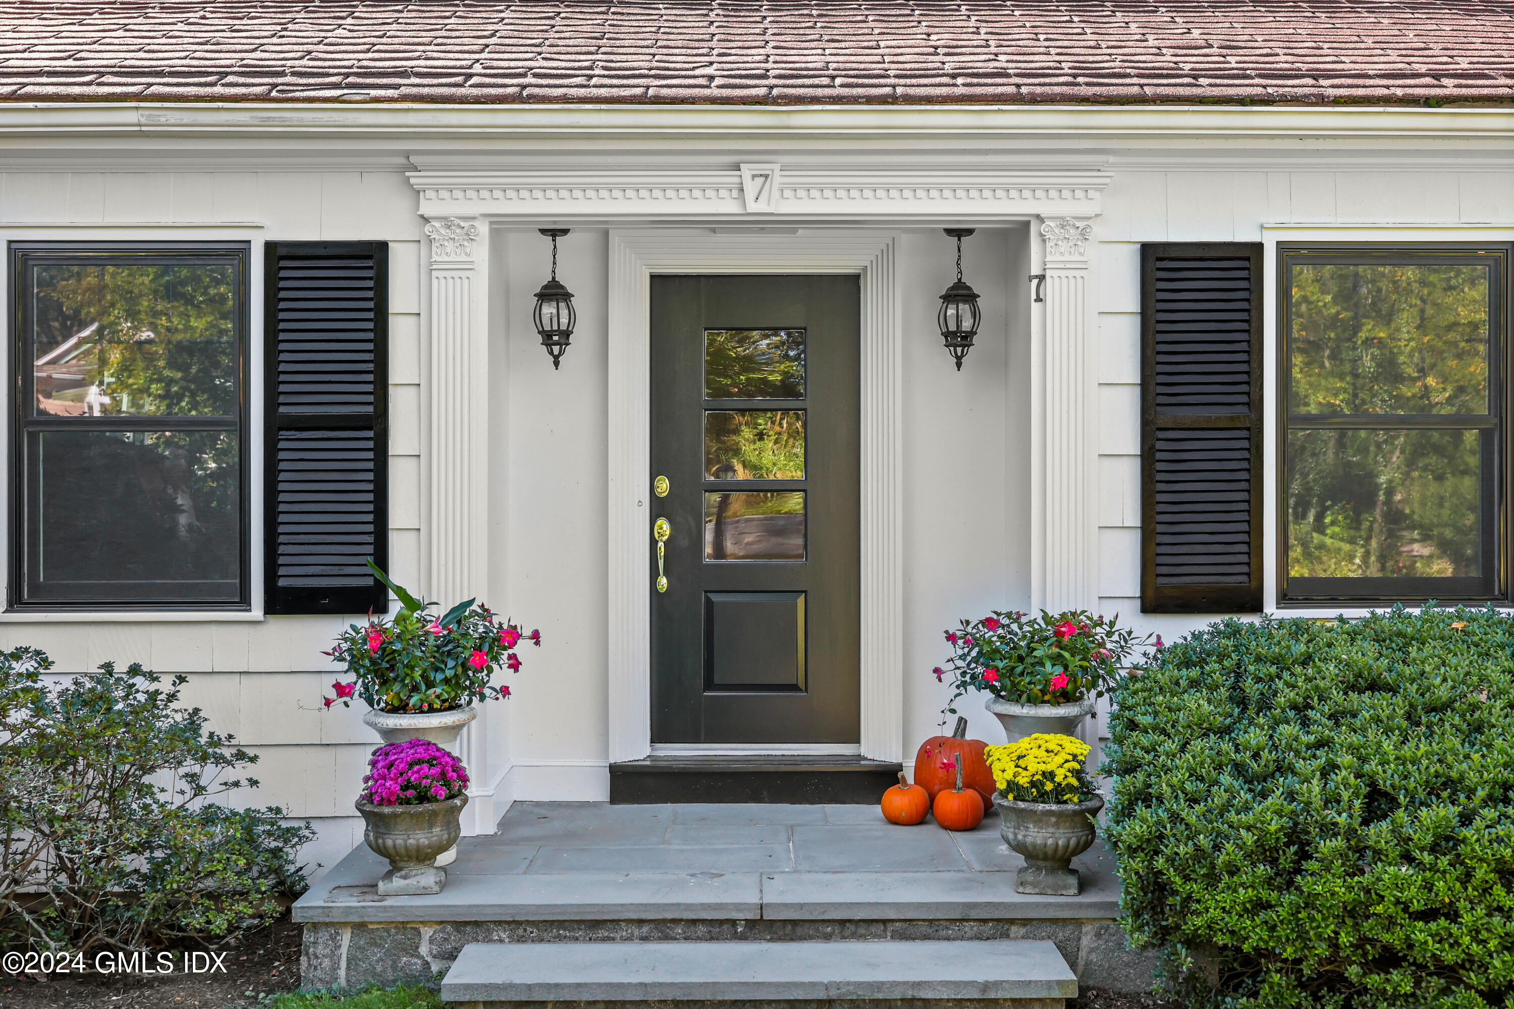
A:
<svg viewBox="0 0 1514 1009">
<path fill-rule="evenodd" d="M 1514 1004 L 1514 622 L 1225 620 L 1110 726 L 1123 924 L 1190 1004 Z"/>
</svg>

